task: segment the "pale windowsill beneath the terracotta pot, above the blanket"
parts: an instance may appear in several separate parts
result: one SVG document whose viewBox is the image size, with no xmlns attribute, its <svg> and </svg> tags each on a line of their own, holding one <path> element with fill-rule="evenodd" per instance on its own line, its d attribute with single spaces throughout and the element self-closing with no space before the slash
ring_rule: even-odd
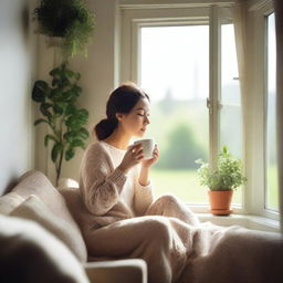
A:
<svg viewBox="0 0 283 283">
<path fill-rule="evenodd" d="M 252 214 L 213 216 L 211 213 L 197 213 L 201 222 L 210 221 L 217 226 L 242 226 L 248 229 L 268 232 L 280 232 L 280 222 L 264 217 Z"/>
</svg>

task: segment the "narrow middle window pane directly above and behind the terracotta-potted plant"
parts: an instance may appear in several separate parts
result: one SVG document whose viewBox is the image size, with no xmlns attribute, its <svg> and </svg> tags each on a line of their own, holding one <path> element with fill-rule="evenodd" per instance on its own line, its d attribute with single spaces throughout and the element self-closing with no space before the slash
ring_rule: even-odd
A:
<svg viewBox="0 0 283 283">
<path fill-rule="evenodd" d="M 241 92 L 234 41 L 234 25 L 221 25 L 221 109 L 220 146 L 242 159 Z M 233 203 L 241 205 L 242 189 L 234 192 Z"/>
</svg>

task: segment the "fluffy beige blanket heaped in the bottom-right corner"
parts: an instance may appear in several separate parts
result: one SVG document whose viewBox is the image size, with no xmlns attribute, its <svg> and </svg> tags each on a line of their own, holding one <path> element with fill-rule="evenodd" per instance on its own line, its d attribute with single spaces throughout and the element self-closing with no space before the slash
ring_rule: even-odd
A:
<svg viewBox="0 0 283 283">
<path fill-rule="evenodd" d="M 201 223 L 178 283 L 282 283 L 283 238 L 277 233 Z"/>
</svg>

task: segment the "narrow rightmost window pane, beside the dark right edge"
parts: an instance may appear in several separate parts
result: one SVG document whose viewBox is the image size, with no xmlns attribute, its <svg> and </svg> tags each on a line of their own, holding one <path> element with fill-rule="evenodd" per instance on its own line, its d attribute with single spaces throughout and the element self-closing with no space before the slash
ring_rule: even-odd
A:
<svg viewBox="0 0 283 283">
<path fill-rule="evenodd" d="M 265 207 L 279 210 L 279 186 L 276 163 L 276 132 L 275 132 L 275 103 L 276 103 L 276 49 L 274 13 L 268 17 L 268 129 L 266 129 L 266 191 Z"/>
</svg>

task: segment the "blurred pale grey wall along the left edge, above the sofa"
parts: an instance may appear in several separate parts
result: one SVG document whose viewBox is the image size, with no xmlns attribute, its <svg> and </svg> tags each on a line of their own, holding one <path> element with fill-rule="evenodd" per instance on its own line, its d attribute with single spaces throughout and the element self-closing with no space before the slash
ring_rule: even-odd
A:
<svg viewBox="0 0 283 283">
<path fill-rule="evenodd" d="M 0 195 L 33 167 L 31 83 L 35 36 L 29 17 L 32 1 L 0 1 Z"/>
</svg>

